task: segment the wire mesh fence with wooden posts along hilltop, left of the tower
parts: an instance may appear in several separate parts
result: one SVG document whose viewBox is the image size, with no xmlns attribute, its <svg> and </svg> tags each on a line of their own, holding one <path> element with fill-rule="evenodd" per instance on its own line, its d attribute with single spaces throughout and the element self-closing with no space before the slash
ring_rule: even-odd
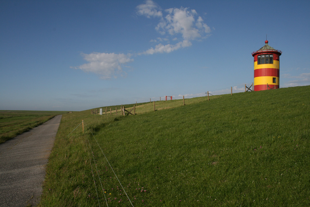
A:
<svg viewBox="0 0 310 207">
<path fill-rule="evenodd" d="M 232 93 L 241 93 L 241 92 L 246 92 L 248 91 L 253 91 L 253 83 L 246 83 L 244 85 L 238 85 L 238 86 L 232 86 L 228 88 L 222 88 L 218 90 L 213 90 L 213 91 L 205 91 L 201 93 L 195 93 L 195 94 L 185 94 L 185 95 L 178 95 L 178 96 L 164 96 L 164 97 L 152 97 L 150 98 L 150 101 L 168 101 L 168 100 L 178 100 L 178 99 L 183 99 L 184 98 L 197 98 L 197 97 L 204 97 L 204 96 L 216 96 L 216 95 L 224 95 L 224 94 L 232 94 Z M 171 99 L 172 97 L 172 99 Z M 147 101 L 143 101 L 147 102 Z"/>
</svg>

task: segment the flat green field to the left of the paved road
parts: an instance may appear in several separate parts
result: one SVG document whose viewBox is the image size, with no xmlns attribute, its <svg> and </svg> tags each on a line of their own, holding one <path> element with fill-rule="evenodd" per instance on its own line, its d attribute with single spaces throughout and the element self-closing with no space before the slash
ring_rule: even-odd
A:
<svg viewBox="0 0 310 207">
<path fill-rule="evenodd" d="M 0 143 L 67 111 L 0 110 Z"/>
</svg>

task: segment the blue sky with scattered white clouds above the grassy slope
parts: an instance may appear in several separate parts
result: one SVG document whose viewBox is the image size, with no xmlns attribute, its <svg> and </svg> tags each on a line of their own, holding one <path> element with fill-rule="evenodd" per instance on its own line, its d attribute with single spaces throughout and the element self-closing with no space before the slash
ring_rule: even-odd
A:
<svg viewBox="0 0 310 207">
<path fill-rule="evenodd" d="M 0 110 L 87 110 L 252 83 L 310 85 L 310 1 L 0 1 Z"/>
</svg>

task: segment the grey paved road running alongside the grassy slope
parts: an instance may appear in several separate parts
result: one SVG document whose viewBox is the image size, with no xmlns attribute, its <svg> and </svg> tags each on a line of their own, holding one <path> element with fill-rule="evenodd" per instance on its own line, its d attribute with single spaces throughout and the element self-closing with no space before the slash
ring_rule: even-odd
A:
<svg viewBox="0 0 310 207">
<path fill-rule="evenodd" d="M 62 115 L 0 144 L 0 206 L 35 206 Z"/>
</svg>

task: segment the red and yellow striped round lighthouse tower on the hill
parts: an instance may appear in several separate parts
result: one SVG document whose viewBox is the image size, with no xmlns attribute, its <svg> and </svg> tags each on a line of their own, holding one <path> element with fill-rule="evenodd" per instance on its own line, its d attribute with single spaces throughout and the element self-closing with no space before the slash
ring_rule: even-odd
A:
<svg viewBox="0 0 310 207">
<path fill-rule="evenodd" d="M 264 47 L 252 52 L 254 57 L 254 91 L 279 88 L 279 57 L 282 51 L 275 50 L 265 41 Z"/>
</svg>

